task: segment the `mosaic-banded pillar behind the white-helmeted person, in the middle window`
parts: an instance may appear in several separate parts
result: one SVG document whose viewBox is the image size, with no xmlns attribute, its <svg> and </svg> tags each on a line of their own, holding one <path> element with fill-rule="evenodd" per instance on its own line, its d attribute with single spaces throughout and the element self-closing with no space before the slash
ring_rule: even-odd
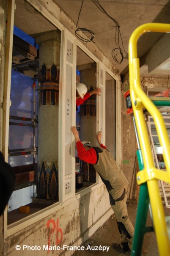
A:
<svg viewBox="0 0 170 256">
<path fill-rule="evenodd" d="M 90 68 L 80 71 L 80 83 L 84 83 L 88 91 L 96 88 L 96 65 L 90 63 Z M 91 146 L 98 145 L 96 141 L 96 95 L 90 96 L 80 106 L 80 140 L 90 141 Z M 80 170 L 84 182 L 96 182 L 96 171 L 93 165 L 80 162 Z"/>
</svg>

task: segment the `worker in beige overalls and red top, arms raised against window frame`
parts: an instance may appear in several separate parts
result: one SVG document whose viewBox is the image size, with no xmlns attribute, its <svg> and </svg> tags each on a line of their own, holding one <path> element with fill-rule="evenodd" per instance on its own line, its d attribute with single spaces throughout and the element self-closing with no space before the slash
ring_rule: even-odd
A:
<svg viewBox="0 0 170 256">
<path fill-rule="evenodd" d="M 80 160 L 93 164 L 109 192 L 110 205 L 115 213 L 121 235 L 120 244 L 113 243 L 112 247 L 122 253 L 130 252 L 132 250 L 134 227 L 129 219 L 126 204 L 129 183 L 115 159 L 101 143 L 101 132 L 96 135 L 100 146 L 93 147 L 83 146 L 76 127 L 71 127 L 71 132 L 75 137 L 78 157 Z"/>
</svg>

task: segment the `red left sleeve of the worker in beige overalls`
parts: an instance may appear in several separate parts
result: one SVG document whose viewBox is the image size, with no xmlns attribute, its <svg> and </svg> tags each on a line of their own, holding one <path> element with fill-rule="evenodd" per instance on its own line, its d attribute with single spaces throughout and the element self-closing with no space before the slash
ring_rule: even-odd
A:
<svg viewBox="0 0 170 256">
<path fill-rule="evenodd" d="M 95 149 L 90 148 L 89 150 L 86 151 L 80 140 L 76 142 L 76 146 L 77 155 L 80 158 L 80 160 L 88 162 L 89 164 L 96 164 L 97 154 Z"/>
</svg>

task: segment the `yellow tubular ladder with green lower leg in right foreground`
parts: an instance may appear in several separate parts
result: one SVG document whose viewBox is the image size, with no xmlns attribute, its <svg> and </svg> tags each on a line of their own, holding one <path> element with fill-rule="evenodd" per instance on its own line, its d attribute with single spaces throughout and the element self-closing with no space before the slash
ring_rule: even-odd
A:
<svg viewBox="0 0 170 256">
<path fill-rule="evenodd" d="M 170 183 L 170 141 L 165 127 L 164 120 L 158 108 L 154 104 L 154 100 L 151 101 L 148 96 L 143 92 L 140 85 L 140 65 L 139 58 L 137 58 L 137 40 L 146 32 L 163 32 L 170 33 L 170 24 L 160 23 L 148 23 L 138 27 L 132 33 L 129 40 L 129 82 L 130 82 L 130 96 L 132 101 L 132 108 L 134 113 L 134 123 L 136 126 L 136 134 L 138 136 L 140 145 L 140 157 L 143 168 L 137 173 L 137 183 L 141 187 L 145 185 L 147 189 L 148 198 L 151 206 L 153 228 L 156 234 L 156 240 L 160 256 L 170 256 L 170 242 L 168 238 L 168 230 L 165 220 L 165 214 L 163 210 L 162 200 L 159 195 L 158 180 L 162 180 Z M 157 98 L 159 100 L 159 98 Z M 161 171 L 155 168 L 154 160 L 151 151 L 151 144 L 148 137 L 148 131 L 145 124 L 145 118 L 143 109 L 148 110 L 154 119 L 156 131 L 161 146 L 163 147 L 163 158 L 166 166 L 166 171 Z M 145 190 L 146 192 L 146 190 Z M 146 193 L 146 194 L 147 194 Z M 131 255 L 140 256 L 143 242 L 141 239 L 141 231 L 138 226 L 142 227 L 143 216 L 140 214 L 142 209 L 141 205 L 144 205 L 144 201 L 147 201 L 147 195 L 140 194 L 137 208 L 137 218 L 135 224 L 134 239 L 132 245 Z M 148 206 L 148 203 L 147 203 Z M 145 216 L 146 218 L 146 212 Z M 146 220 L 144 220 L 144 223 Z M 151 230 L 150 230 L 151 231 Z"/>
</svg>

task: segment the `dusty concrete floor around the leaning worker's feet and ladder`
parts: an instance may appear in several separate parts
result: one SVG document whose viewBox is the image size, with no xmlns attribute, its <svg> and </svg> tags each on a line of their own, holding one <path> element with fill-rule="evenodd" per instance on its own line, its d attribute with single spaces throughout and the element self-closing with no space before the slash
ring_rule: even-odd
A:
<svg viewBox="0 0 170 256">
<path fill-rule="evenodd" d="M 164 206 L 165 215 L 170 215 L 170 208 Z M 135 201 L 129 201 L 128 213 L 129 218 L 135 225 L 137 212 L 137 204 Z M 147 226 L 152 226 L 151 217 L 148 213 Z M 119 233 L 114 214 L 110 216 L 103 226 L 101 226 L 83 245 L 86 247 L 88 244 L 91 246 L 109 246 L 108 251 L 101 250 L 81 250 L 81 256 L 118 256 L 121 252 L 118 252 L 112 248 L 112 243 L 119 243 Z M 146 233 L 143 241 L 142 256 L 159 256 L 157 242 L 154 232 Z M 73 256 L 80 256 L 80 251 L 75 251 Z"/>
</svg>

